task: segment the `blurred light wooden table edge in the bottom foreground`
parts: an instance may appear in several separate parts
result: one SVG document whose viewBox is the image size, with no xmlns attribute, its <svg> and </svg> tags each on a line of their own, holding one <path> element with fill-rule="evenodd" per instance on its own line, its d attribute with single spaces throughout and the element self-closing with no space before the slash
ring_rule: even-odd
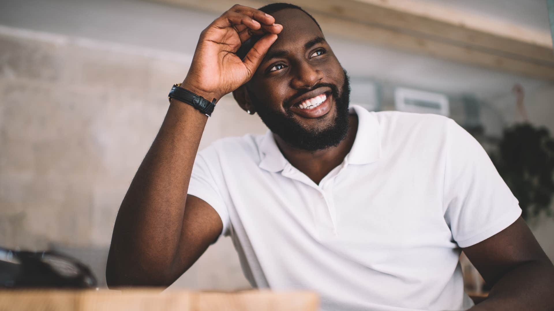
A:
<svg viewBox="0 0 554 311">
<path fill-rule="evenodd" d="M 160 289 L 0 290 L 0 311 L 317 311 L 313 292 L 194 292 Z"/>
</svg>

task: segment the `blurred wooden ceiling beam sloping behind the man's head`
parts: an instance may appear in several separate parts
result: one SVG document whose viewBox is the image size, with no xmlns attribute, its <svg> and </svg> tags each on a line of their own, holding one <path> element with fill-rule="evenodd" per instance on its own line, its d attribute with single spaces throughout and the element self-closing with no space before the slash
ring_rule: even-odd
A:
<svg viewBox="0 0 554 311">
<path fill-rule="evenodd" d="M 153 0 L 222 13 L 225 0 Z M 261 7 L 266 0 L 241 4 Z M 452 9 L 410 0 L 295 0 L 314 15 L 326 34 L 460 63 L 554 81 L 550 34 L 519 25 L 504 29 Z M 406 6 L 402 6 L 402 4 Z M 415 7 L 414 7 L 415 6 Z M 443 16 L 444 15 L 444 16 Z M 468 24 L 471 22 L 471 24 Z"/>
</svg>

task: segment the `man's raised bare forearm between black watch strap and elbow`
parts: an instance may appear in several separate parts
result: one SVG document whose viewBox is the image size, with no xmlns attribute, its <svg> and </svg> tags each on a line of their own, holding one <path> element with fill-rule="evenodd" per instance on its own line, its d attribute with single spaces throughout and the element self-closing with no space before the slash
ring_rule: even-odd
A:
<svg viewBox="0 0 554 311">
<path fill-rule="evenodd" d="M 194 107 L 172 100 L 117 214 L 106 267 L 109 283 L 165 283 L 206 121 Z"/>
</svg>

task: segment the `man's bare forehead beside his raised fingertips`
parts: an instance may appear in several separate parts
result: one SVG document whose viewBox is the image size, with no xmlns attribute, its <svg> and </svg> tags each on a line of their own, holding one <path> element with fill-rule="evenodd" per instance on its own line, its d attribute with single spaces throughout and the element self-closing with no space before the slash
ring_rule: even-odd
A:
<svg viewBox="0 0 554 311">
<path fill-rule="evenodd" d="M 291 44 L 304 45 L 314 37 L 323 37 L 314 20 L 299 9 L 282 9 L 270 15 L 275 18 L 275 23 L 283 25 L 283 30 L 271 49 L 280 49 Z"/>
</svg>

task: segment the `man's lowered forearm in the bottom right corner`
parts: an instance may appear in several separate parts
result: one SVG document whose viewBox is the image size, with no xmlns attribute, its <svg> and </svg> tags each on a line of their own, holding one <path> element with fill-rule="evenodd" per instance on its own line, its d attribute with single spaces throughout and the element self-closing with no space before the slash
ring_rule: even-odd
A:
<svg viewBox="0 0 554 311">
<path fill-rule="evenodd" d="M 550 261 L 529 261 L 506 272 L 489 298 L 472 311 L 554 309 L 554 267 Z"/>
</svg>

